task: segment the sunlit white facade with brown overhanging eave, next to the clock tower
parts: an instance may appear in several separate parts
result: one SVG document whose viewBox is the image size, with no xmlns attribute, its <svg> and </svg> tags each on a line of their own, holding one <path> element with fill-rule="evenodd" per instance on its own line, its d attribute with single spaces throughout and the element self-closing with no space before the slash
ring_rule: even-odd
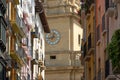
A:
<svg viewBox="0 0 120 80">
<path fill-rule="evenodd" d="M 35 25 L 31 32 L 32 42 L 32 79 L 33 80 L 45 80 L 45 41 L 44 32 L 50 32 L 47 21 L 45 19 L 45 13 L 42 6 L 42 2 L 35 1 Z M 44 20 L 43 20 L 44 19 Z"/>
</svg>

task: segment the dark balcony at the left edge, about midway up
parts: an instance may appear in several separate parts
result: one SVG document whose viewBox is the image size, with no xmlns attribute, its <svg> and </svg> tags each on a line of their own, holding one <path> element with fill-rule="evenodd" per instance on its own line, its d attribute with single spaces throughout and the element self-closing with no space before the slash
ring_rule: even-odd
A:
<svg viewBox="0 0 120 80">
<path fill-rule="evenodd" d="M 1 52 L 6 50 L 6 22 L 3 16 L 0 15 L 0 49 Z"/>
</svg>

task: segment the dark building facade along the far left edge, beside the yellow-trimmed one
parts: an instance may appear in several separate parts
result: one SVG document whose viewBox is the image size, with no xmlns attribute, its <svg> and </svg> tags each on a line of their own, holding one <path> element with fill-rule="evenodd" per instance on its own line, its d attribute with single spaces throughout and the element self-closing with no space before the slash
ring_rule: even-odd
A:
<svg viewBox="0 0 120 80">
<path fill-rule="evenodd" d="M 6 61 L 5 61 L 5 53 L 6 51 L 6 31 L 7 31 L 7 22 L 5 20 L 5 14 L 6 14 L 6 0 L 0 0 L 0 79 L 5 80 L 6 77 Z M 3 34 L 3 35 L 2 35 Z"/>
</svg>

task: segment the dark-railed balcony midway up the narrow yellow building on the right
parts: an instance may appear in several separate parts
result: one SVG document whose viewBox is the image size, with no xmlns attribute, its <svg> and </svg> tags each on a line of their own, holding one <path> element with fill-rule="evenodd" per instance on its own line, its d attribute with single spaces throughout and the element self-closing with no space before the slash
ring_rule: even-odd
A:
<svg viewBox="0 0 120 80">
<path fill-rule="evenodd" d="M 94 53 L 92 51 L 94 51 L 94 34 L 90 33 L 88 36 L 88 53 L 87 54 Z"/>
</svg>

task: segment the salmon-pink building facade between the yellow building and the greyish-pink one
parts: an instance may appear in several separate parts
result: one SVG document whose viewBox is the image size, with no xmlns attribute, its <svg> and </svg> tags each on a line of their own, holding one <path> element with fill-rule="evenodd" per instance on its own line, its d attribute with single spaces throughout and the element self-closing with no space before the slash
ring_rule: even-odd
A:
<svg viewBox="0 0 120 80">
<path fill-rule="evenodd" d="M 95 8 L 95 32 L 96 32 L 96 79 L 105 79 L 105 60 L 106 60 L 106 32 L 104 32 L 105 1 L 96 0 Z"/>
</svg>

